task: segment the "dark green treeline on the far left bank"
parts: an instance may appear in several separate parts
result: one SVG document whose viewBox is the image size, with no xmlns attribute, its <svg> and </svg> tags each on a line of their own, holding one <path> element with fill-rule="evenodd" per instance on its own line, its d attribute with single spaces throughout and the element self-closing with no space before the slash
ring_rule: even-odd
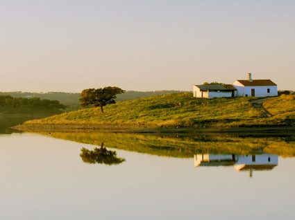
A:
<svg viewBox="0 0 295 220">
<path fill-rule="evenodd" d="M 0 107 L 33 107 L 38 109 L 65 109 L 64 104 L 58 100 L 47 100 L 40 98 L 12 98 L 10 95 L 0 95 Z"/>
</svg>

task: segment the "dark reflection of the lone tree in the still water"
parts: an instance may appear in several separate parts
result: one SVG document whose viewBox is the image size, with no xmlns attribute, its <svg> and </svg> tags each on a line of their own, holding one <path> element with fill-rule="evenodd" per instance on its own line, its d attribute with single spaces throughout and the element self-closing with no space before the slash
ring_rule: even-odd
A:
<svg viewBox="0 0 295 220">
<path fill-rule="evenodd" d="M 117 152 L 107 150 L 106 147 L 95 147 L 93 150 L 83 147 L 80 154 L 84 163 L 104 163 L 106 165 L 117 165 L 124 161 L 124 158 L 117 157 Z"/>
</svg>

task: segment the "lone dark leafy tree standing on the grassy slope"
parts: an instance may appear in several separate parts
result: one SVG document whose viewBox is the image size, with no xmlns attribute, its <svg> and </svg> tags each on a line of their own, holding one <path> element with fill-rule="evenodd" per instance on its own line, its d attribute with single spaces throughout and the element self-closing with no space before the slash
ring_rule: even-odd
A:
<svg viewBox="0 0 295 220">
<path fill-rule="evenodd" d="M 103 107 L 107 104 L 115 104 L 117 94 L 124 93 L 123 89 L 115 86 L 108 86 L 100 89 L 84 89 L 81 93 L 80 102 L 83 106 L 94 104 L 95 107 Z"/>
</svg>

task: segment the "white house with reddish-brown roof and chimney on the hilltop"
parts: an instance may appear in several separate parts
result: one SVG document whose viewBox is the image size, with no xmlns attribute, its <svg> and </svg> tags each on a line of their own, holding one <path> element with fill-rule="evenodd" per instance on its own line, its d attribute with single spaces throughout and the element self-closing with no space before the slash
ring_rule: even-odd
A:
<svg viewBox="0 0 295 220">
<path fill-rule="evenodd" d="M 278 95 L 278 86 L 271 80 L 252 80 L 248 73 L 248 80 L 236 80 L 233 86 L 237 89 L 237 96 L 266 97 Z"/>
</svg>

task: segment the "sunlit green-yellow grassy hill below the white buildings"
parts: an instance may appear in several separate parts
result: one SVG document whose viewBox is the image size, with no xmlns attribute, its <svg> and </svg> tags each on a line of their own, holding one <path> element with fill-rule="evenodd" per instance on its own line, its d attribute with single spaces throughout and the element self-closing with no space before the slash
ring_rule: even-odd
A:
<svg viewBox="0 0 295 220">
<path fill-rule="evenodd" d="M 276 98 L 193 98 L 176 93 L 82 109 L 40 120 L 26 127 L 65 129 L 136 129 L 155 127 L 267 127 L 295 125 L 295 95 Z"/>
</svg>

